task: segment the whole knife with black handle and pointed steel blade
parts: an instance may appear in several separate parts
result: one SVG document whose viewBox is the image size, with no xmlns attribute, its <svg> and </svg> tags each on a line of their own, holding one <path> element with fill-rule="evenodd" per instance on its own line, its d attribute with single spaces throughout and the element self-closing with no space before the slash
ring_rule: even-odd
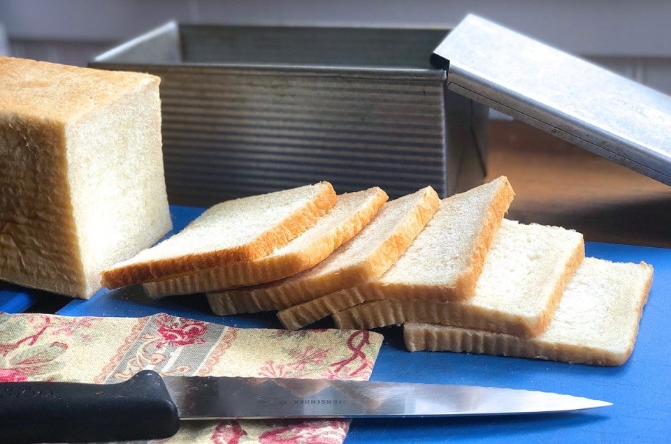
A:
<svg viewBox="0 0 671 444">
<path fill-rule="evenodd" d="M 612 405 L 567 394 L 355 380 L 159 376 L 114 384 L 0 383 L 0 441 L 167 438 L 180 420 L 440 417 L 583 410 Z"/>
</svg>

